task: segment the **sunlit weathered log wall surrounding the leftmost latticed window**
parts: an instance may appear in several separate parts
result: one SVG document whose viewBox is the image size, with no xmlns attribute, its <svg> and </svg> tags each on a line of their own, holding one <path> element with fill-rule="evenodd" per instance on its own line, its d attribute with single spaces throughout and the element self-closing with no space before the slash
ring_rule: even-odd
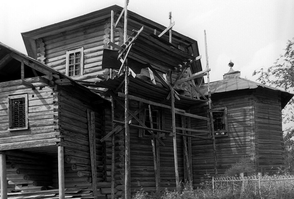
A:
<svg viewBox="0 0 294 199">
<path fill-rule="evenodd" d="M 37 82 L 37 77 L 26 78 L 27 82 Z M 55 145 L 60 139 L 54 130 L 53 115 L 55 101 L 53 89 L 43 86 L 35 89 L 18 84 L 19 80 L 0 83 L 0 150 L 20 149 Z M 14 86 L 12 86 L 14 85 Z M 34 86 L 42 86 L 33 83 Z M 28 94 L 29 128 L 21 131 L 8 131 L 8 96 Z"/>
</svg>

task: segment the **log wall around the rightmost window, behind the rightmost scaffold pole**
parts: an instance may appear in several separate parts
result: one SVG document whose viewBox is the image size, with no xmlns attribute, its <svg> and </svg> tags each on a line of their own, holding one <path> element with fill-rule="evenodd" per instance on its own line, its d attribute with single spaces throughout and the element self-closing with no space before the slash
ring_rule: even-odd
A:
<svg viewBox="0 0 294 199">
<path fill-rule="evenodd" d="M 227 107 L 228 136 L 216 137 L 216 154 L 218 173 L 224 174 L 226 169 L 244 156 L 255 154 L 254 132 L 254 96 L 250 90 L 214 94 L 214 107 Z M 191 113 L 208 116 L 208 107 L 191 109 Z M 191 118 L 191 128 L 207 130 L 207 122 Z M 208 136 L 202 133 L 192 135 Z M 253 161 L 253 165 L 254 165 Z M 214 176 L 214 155 L 211 140 L 192 138 L 192 171 L 193 184 L 199 186 L 209 176 Z"/>
</svg>

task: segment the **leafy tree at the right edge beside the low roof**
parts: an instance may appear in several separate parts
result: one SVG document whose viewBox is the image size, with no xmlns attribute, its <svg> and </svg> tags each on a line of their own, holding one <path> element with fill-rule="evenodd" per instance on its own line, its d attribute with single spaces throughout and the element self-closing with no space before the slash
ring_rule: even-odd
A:
<svg viewBox="0 0 294 199">
<path fill-rule="evenodd" d="M 261 68 L 254 71 L 252 75 L 258 75 L 257 80 L 262 84 L 276 86 L 278 88 L 294 91 L 294 38 L 287 42 L 285 53 L 281 54 L 273 66 Z M 294 98 L 288 102 L 283 109 L 283 123 L 294 122 Z M 285 172 L 294 174 L 294 127 L 291 126 L 284 130 L 285 146 Z"/>
</svg>

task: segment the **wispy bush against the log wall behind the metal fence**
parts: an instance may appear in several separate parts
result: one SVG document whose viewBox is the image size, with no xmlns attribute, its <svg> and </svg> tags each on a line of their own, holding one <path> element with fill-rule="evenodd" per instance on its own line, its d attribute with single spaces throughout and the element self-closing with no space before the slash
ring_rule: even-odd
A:
<svg viewBox="0 0 294 199">
<path fill-rule="evenodd" d="M 227 169 L 224 176 L 239 176 L 240 173 L 250 173 L 253 174 L 255 168 L 253 166 L 253 161 L 255 157 L 242 157 L 237 163 L 230 166 Z"/>
</svg>

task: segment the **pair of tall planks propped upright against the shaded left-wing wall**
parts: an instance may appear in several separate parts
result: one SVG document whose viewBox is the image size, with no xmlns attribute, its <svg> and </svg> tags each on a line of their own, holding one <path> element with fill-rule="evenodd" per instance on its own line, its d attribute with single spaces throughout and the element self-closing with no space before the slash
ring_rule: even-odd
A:
<svg viewBox="0 0 294 199">
<path fill-rule="evenodd" d="M 95 137 L 95 112 L 87 109 L 89 146 L 91 156 L 92 189 L 94 199 L 98 197 L 97 192 L 97 161 L 96 161 L 96 137 Z"/>
</svg>

